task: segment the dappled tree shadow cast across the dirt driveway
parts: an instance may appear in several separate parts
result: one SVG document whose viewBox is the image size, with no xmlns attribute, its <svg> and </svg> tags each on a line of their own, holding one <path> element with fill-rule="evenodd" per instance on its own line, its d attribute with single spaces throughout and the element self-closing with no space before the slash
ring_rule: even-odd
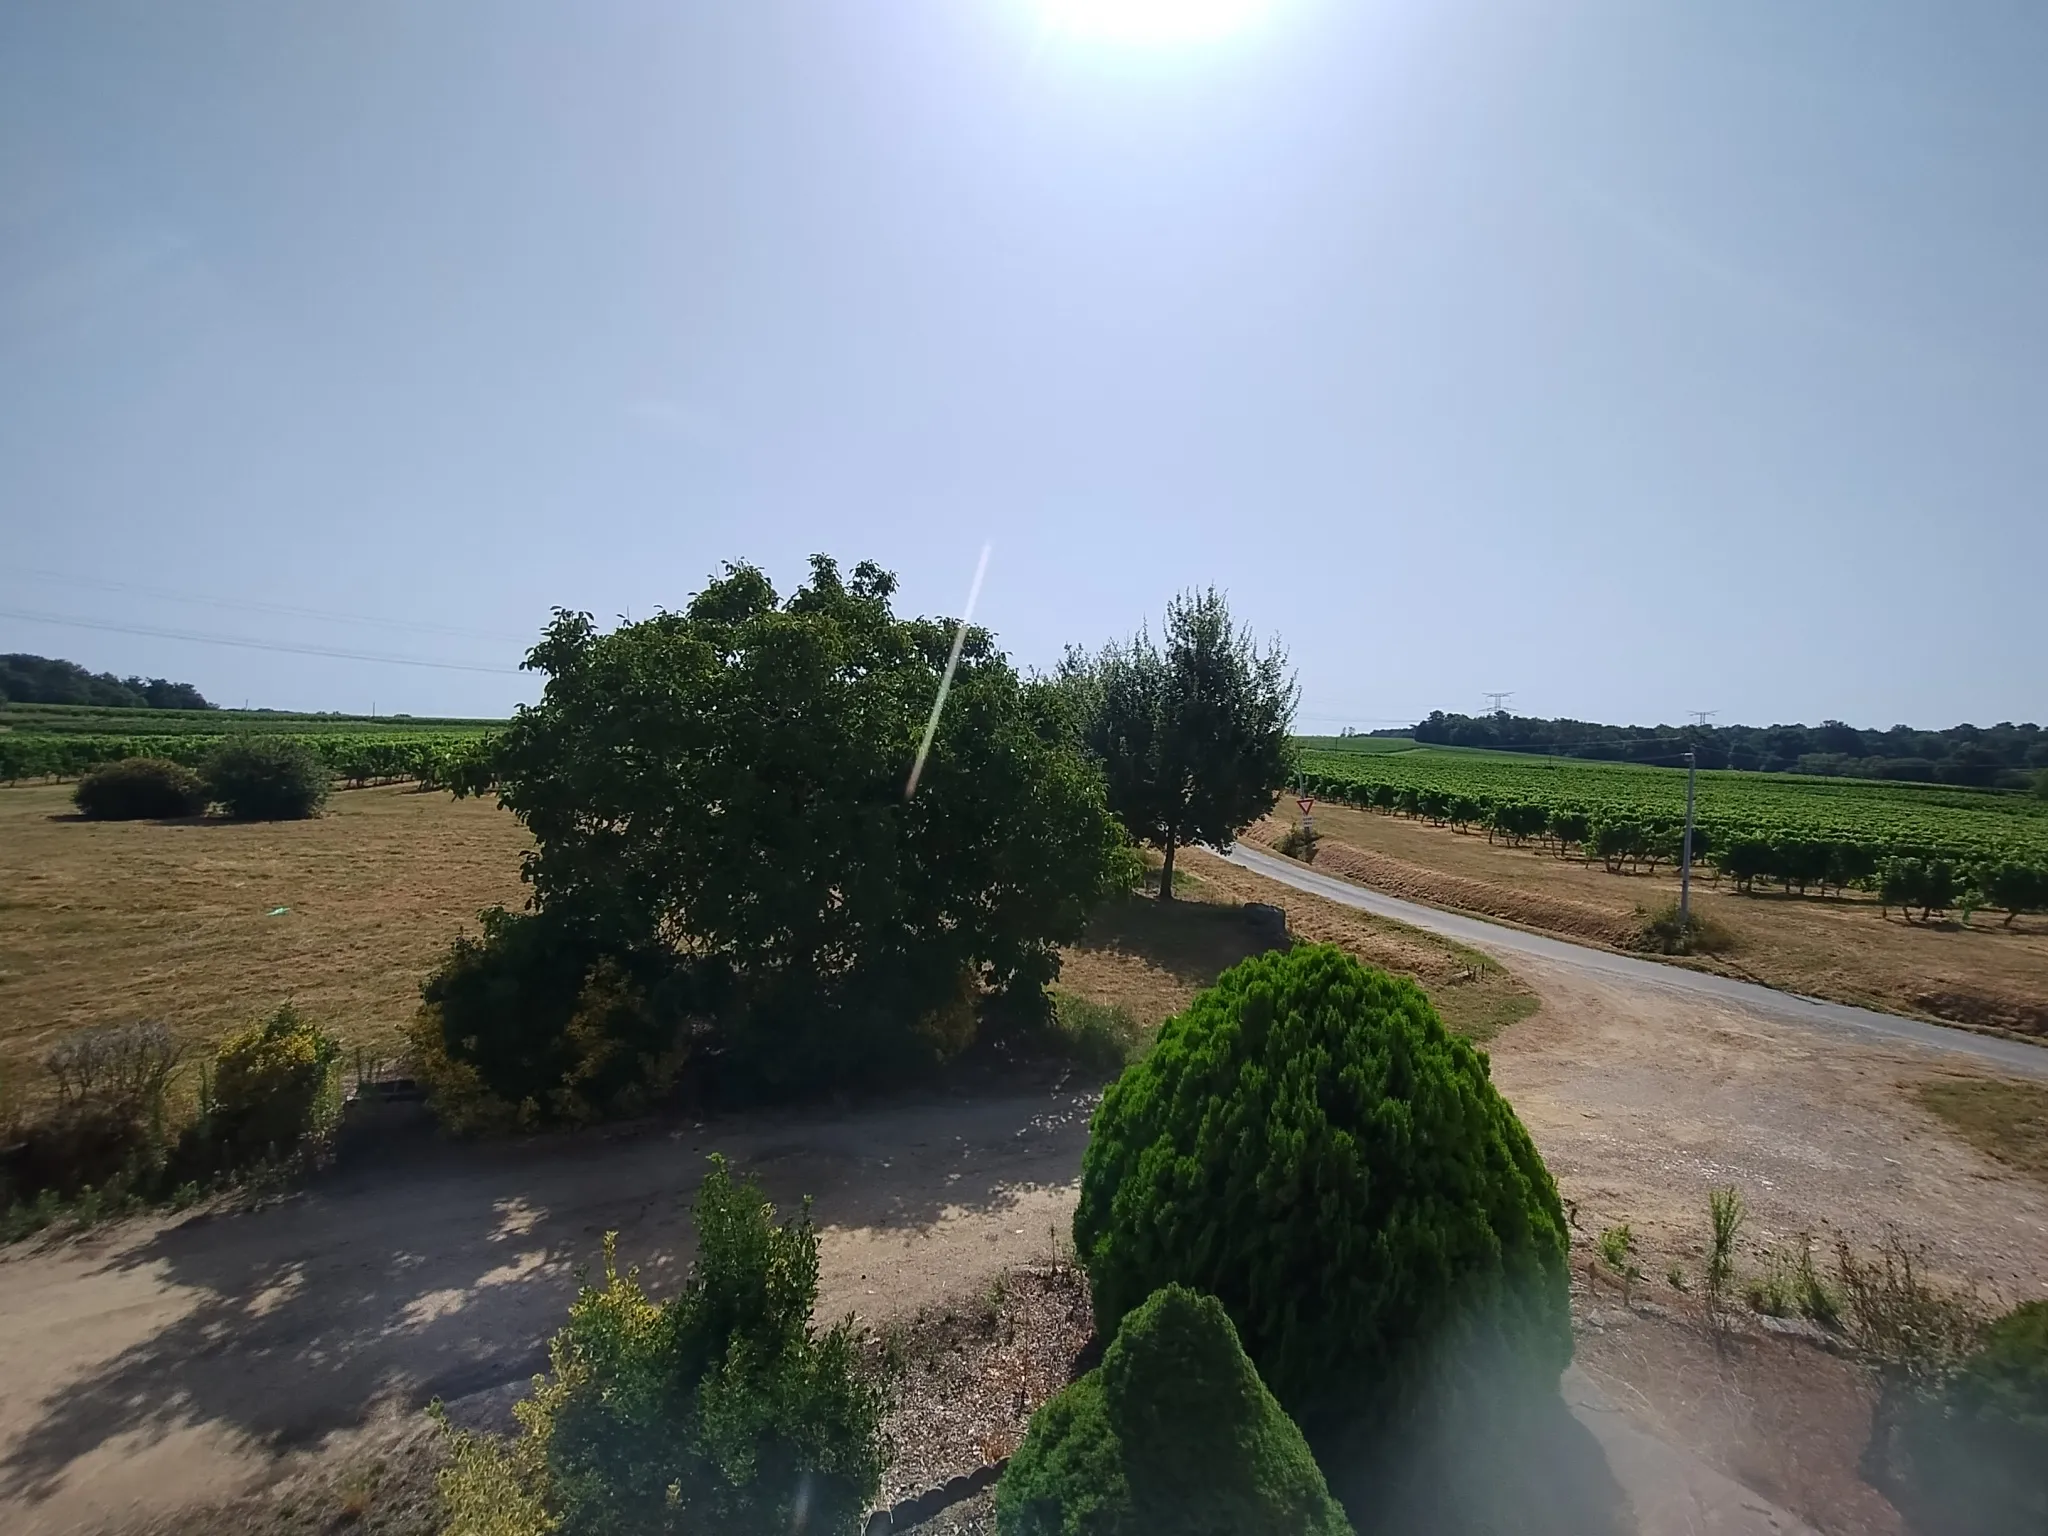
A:
<svg viewBox="0 0 2048 1536">
<path fill-rule="evenodd" d="M 90 1294 L 109 1329 L 135 1309 L 188 1307 L 84 1374 L 61 1360 L 14 1374 L 10 1391 L 41 1403 L 0 1456 L 0 1499 L 47 1497 L 80 1456 L 123 1436 L 145 1446 L 217 1425 L 285 1450 L 385 1403 L 530 1374 L 606 1231 L 655 1294 L 680 1280 L 711 1153 L 758 1174 L 784 1214 L 813 1196 L 827 1231 L 915 1235 L 1069 1184 L 1090 1104 L 1044 1087 L 924 1092 L 526 1143 L 393 1135 L 266 1208 L 137 1227 L 111 1253 L 45 1253 L 33 1282 L 18 1270 L 0 1286 L 12 1307 Z M 76 1311 L 68 1321 L 92 1327 Z"/>
</svg>

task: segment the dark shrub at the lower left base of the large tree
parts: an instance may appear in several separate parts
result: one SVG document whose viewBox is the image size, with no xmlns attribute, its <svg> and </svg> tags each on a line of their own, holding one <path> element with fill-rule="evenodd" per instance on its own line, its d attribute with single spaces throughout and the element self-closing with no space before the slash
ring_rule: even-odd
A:
<svg viewBox="0 0 2048 1536">
<path fill-rule="evenodd" d="M 551 913 L 481 913 L 422 983 L 414 1073 L 455 1130 L 639 1114 L 688 1057 L 688 983 L 659 950 L 606 954 Z"/>
</svg>

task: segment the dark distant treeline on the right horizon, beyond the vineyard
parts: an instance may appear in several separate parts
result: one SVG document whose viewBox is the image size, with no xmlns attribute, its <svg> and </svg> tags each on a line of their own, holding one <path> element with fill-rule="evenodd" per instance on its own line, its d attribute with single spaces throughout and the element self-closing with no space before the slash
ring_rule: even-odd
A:
<svg viewBox="0 0 2048 1536">
<path fill-rule="evenodd" d="M 1610 762 L 1683 760 L 1702 768 L 1774 774 L 1905 778 L 1927 784 L 2028 784 L 2048 768 L 2048 731 L 2040 725 L 1952 725 L 1946 731 L 1860 731 L 1841 721 L 1819 725 L 1599 725 L 1538 721 L 1524 715 L 1446 715 L 1434 711 L 1413 731 L 1417 741 L 1495 752 L 1540 752 Z"/>
</svg>

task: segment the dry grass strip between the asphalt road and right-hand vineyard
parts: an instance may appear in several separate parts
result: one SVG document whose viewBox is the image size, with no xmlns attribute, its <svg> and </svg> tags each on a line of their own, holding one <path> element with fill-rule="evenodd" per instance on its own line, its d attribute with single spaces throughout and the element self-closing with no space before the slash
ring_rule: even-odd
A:
<svg viewBox="0 0 2048 1536">
<path fill-rule="evenodd" d="M 1249 836 L 1270 842 L 1298 821 L 1292 801 Z M 1677 877 L 1610 874 L 1536 848 L 1489 844 L 1376 811 L 1315 807 L 1325 836 L 1319 868 L 1391 895 L 1456 907 L 1577 942 L 1626 946 L 1645 909 L 1677 899 Z M 1702 915 L 1722 924 L 1735 946 L 1710 961 L 1716 971 L 1810 997 L 1917 1014 L 1952 1024 L 2048 1036 L 2048 918 L 1999 915 L 1919 924 L 1882 918 L 1874 899 L 1737 895 L 1694 881 Z"/>
</svg>

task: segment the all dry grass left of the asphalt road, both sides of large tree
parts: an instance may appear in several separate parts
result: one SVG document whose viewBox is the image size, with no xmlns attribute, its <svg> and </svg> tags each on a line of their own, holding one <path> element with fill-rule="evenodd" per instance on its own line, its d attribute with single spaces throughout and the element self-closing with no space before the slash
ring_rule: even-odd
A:
<svg viewBox="0 0 2048 1536">
<path fill-rule="evenodd" d="M 68 786 L 0 791 L 0 1073 L 35 1094 L 68 1030 L 154 1018 L 203 1042 L 283 1001 L 393 1055 L 449 940 L 524 899 L 524 848 L 496 803 L 406 786 L 266 823 L 80 821 Z M 1200 854 L 1188 864 L 1188 899 L 1098 913 L 1061 985 L 1157 1028 L 1264 948 L 1239 911 L 1257 883 Z M 1475 1036 L 1536 1006 L 1493 961 L 1399 924 L 1362 915 L 1329 938 L 1417 977 Z"/>
</svg>

